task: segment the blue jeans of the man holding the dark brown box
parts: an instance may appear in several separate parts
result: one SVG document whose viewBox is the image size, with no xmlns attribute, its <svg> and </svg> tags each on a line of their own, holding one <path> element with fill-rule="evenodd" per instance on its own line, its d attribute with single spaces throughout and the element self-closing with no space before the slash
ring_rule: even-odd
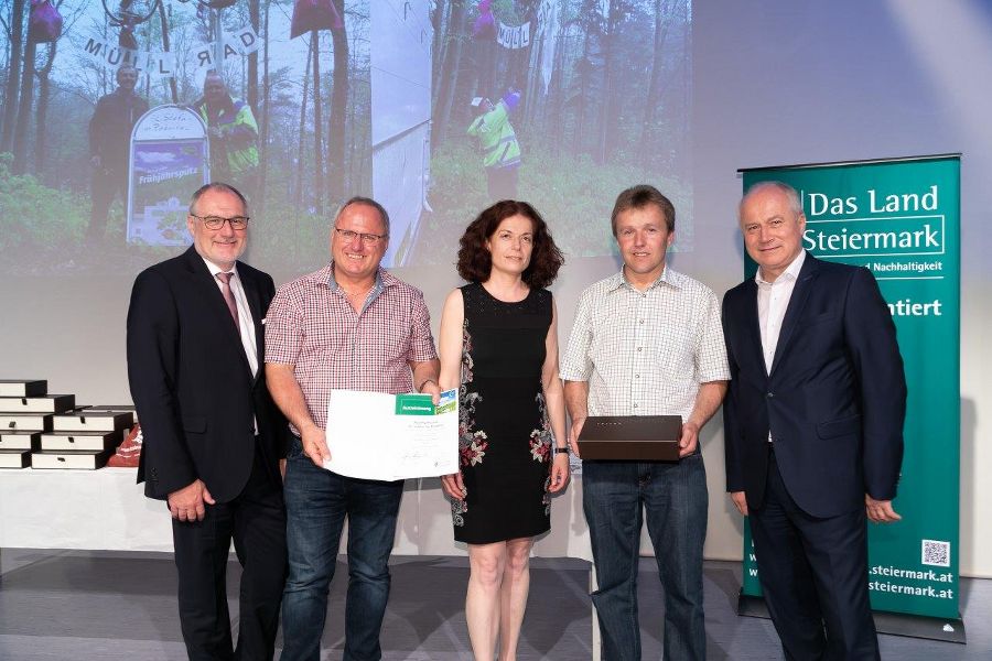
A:
<svg viewBox="0 0 992 661">
<path fill-rule="evenodd" d="M 582 507 L 599 581 L 592 600 L 606 661 L 640 659 L 637 565 L 645 512 L 665 590 L 665 659 L 705 659 L 702 548 L 708 499 L 699 452 L 677 464 L 583 462 Z"/>
</svg>

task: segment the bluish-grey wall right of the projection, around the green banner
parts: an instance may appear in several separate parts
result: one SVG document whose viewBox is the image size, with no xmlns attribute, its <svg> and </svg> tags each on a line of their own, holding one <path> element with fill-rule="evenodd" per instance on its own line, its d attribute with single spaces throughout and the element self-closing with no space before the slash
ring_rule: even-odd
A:
<svg viewBox="0 0 992 661">
<path fill-rule="evenodd" d="M 992 534 L 981 524 L 992 517 L 992 481 L 982 479 L 992 474 L 989 4 L 698 2 L 696 12 L 698 238 L 687 270 L 714 289 L 743 270 L 730 236 L 737 167 L 963 152 L 960 568 L 992 576 Z M 719 496 L 721 445 L 714 438 L 707 447 L 707 553 L 740 557 L 740 518 Z"/>
</svg>

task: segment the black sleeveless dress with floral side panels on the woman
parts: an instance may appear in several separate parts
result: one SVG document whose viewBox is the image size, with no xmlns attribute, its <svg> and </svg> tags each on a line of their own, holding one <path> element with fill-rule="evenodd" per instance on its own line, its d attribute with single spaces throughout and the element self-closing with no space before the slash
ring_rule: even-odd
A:
<svg viewBox="0 0 992 661">
<path fill-rule="evenodd" d="M 454 538 L 488 544 L 533 537 L 551 528 L 553 438 L 541 389 L 551 292 L 504 303 L 473 283 L 462 296 L 459 463 L 468 495 L 452 501 Z"/>
</svg>

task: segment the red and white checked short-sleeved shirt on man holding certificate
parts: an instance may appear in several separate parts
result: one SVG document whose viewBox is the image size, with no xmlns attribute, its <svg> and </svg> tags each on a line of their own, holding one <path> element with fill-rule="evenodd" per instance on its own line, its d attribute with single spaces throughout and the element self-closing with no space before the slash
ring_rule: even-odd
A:
<svg viewBox="0 0 992 661">
<path fill-rule="evenodd" d="M 410 392 L 410 361 L 434 358 L 423 293 L 382 269 L 360 313 L 335 282 L 332 262 L 280 286 L 266 315 L 266 362 L 294 366 L 321 429 L 332 389 Z"/>
</svg>

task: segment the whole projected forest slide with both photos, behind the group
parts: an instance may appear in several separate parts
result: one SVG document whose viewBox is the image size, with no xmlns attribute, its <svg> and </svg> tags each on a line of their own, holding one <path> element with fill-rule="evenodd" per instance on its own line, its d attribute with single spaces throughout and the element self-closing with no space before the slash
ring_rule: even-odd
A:
<svg viewBox="0 0 992 661">
<path fill-rule="evenodd" d="M 691 22 L 689 0 L 0 0 L 0 272 L 175 254 L 208 180 L 281 272 L 324 263 L 359 194 L 389 267 L 452 263 L 510 196 L 567 256 L 608 254 L 641 182 L 691 249 Z"/>
</svg>

